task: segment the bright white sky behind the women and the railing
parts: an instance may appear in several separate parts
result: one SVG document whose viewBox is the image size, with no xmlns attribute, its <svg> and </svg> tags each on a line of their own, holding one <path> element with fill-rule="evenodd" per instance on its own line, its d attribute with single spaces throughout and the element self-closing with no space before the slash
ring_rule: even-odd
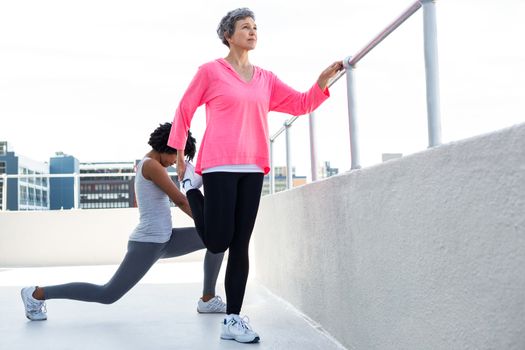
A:
<svg viewBox="0 0 525 350">
<path fill-rule="evenodd" d="M 171 121 L 197 67 L 227 48 L 216 37 L 230 9 L 254 10 L 251 61 L 298 90 L 355 54 L 412 0 L 0 0 L 0 140 L 47 161 L 132 161 Z M 438 0 L 443 142 L 525 122 L 524 0 Z M 361 160 L 427 147 L 422 11 L 356 70 Z M 344 79 L 317 111 L 319 161 L 350 167 Z M 269 116 L 272 134 L 289 116 Z M 198 141 L 204 109 L 193 121 Z M 293 127 L 294 165 L 309 175 L 306 118 Z M 284 164 L 284 134 L 276 164 Z"/>
</svg>

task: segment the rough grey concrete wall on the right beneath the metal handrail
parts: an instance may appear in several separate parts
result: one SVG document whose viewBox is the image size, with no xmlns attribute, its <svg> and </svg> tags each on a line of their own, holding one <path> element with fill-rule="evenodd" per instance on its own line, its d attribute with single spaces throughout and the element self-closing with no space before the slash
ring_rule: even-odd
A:
<svg viewBox="0 0 525 350">
<path fill-rule="evenodd" d="M 350 349 L 525 349 L 525 124 L 264 197 L 254 245 Z"/>
</svg>

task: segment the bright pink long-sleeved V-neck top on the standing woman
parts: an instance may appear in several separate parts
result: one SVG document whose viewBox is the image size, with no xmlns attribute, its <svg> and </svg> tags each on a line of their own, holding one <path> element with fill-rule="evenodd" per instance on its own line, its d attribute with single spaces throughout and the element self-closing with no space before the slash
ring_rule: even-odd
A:
<svg viewBox="0 0 525 350">
<path fill-rule="evenodd" d="M 175 112 L 168 146 L 184 149 L 191 119 L 206 104 L 206 130 L 195 170 L 219 165 L 256 164 L 270 171 L 268 112 L 295 116 L 310 113 L 330 96 L 317 82 L 300 93 L 270 71 L 254 67 L 244 81 L 228 61 L 219 58 L 199 67 Z"/>
</svg>

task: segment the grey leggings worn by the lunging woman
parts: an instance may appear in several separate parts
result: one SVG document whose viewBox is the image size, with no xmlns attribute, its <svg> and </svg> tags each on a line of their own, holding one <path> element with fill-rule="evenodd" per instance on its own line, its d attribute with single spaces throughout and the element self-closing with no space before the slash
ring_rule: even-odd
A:
<svg viewBox="0 0 525 350">
<path fill-rule="evenodd" d="M 108 283 L 96 285 L 74 282 L 43 287 L 44 298 L 112 304 L 133 288 L 157 260 L 181 256 L 204 248 L 194 227 L 172 229 L 171 238 L 166 243 L 129 241 L 128 252 Z M 215 284 L 223 255 L 206 251 L 203 294 L 215 295 Z"/>
</svg>

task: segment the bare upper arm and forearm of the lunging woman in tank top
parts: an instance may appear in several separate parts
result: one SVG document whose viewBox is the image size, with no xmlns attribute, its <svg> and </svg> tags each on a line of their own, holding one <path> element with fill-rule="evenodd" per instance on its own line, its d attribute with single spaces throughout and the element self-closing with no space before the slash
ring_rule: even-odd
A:
<svg viewBox="0 0 525 350">
<path fill-rule="evenodd" d="M 168 195 L 180 210 L 185 212 L 190 218 L 192 218 L 190 205 L 188 199 L 182 192 L 177 188 L 173 180 L 168 176 L 166 168 L 164 168 L 159 162 L 154 159 L 150 159 L 144 162 L 142 166 L 142 175 L 148 180 L 153 181 L 164 193 Z"/>
</svg>

